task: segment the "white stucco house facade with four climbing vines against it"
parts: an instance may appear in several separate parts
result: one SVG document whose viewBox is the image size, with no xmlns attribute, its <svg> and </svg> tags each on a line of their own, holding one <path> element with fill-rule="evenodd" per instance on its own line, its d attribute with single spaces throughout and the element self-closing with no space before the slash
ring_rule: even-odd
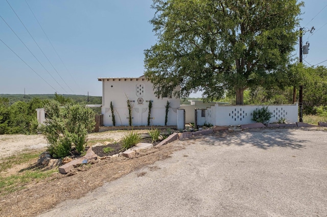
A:
<svg viewBox="0 0 327 217">
<path fill-rule="evenodd" d="M 115 126 L 129 125 L 129 109 L 127 100 L 131 104 L 133 126 L 148 125 L 149 102 L 152 102 L 150 125 L 165 125 L 167 101 L 170 103 L 168 112 L 169 126 L 177 125 L 177 109 L 180 99 L 173 97 L 157 97 L 152 83 L 145 77 L 99 77 L 102 82 L 102 114 L 103 125 L 113 126 L 110 102 L 113 106 Z M 179 89 L 179 88 L 178 88 Z M 178 90 L 176 89 L 176 90 Z"/>
</svg>

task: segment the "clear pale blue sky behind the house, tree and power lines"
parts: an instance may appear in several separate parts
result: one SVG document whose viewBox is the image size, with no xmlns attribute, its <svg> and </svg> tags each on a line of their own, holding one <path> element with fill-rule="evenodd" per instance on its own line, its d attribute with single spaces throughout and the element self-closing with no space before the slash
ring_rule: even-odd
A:
<svg viewBox="0 0 327 217">
<path fill-rule="evenodd" d="M 327 2 L 304 2 L 301 26 L 316 30 L 303 35 L 303 44 L 310 43 L 303 63 L 315 65 L 327 60 Z M 0 40 L 29 65 L 0 41 L 0 94 L 23 94 L 25 89 L 26 94 L 101 96 L 98 77 L 141 76 L 144 50 L 156 42 L 149 23 L 154 15 L 151 4 L 152 0 L 0 0 Z M 319 65 L 327 66 L 327 61 Z"/>
</svg>

